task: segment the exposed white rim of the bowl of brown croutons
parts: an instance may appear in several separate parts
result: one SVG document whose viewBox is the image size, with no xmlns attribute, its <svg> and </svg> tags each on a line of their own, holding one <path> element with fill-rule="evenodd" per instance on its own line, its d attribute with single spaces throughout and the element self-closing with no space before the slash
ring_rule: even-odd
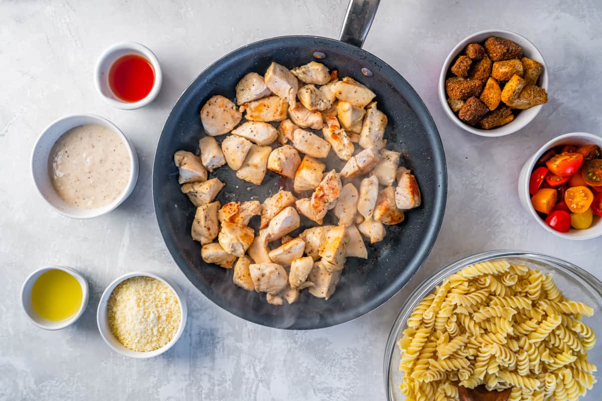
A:
<svg viewBox="0 0 602 401">
<path fill-rule="evenodd" d="M 533 121 L 533 119 L 536 117 L 536 115 L 539 114 L 539 111 L 541 111 L 541 109 L 544 105 L 538 105 L 538 106 L 530 108 L 529 110 L 531 110 L 531 113 L 530 113 L 529 117 L 523 121 L 523 123 L 516 124 L 517 121 L 511 121 L 510 123 L 508 123 L 504 126 L 497 127 L 494 129 L 478 129 L 475 127 L 471 127 L 468 124 L 465 124 L 463 121 L 461 121 L 460 118 L 458 118 L 458 116 L 452 111 L 452 109 L 450 109 L 450 106 L 447 104 L 447 96 L 445 94 L 445 76 L 447 76 L 447 70 L 450 68 L 450 65 L 452 64 L 452 60 L 456 57 L 456 55 L 459 54 L 459 52 L 461 51 L 461 49 L 464 46 L 466 46 L 474 37 L 484 35 L 484 34 L 492 34 L 492 35 L 503 34 L 503 35 L 507 35 L 509 37 L 518 38 L 518 39 L 528 43 L 530 46 L 532 46 L 533 50 L 535 51 L 535 54 L 539 56 L 539 59 L 541 60 L 540 63 L 543 66 L 543 72 L 541 75 L 541 80 L 542 80 L 541 88 L 544 88 L 546 91 L 548 91 L 548 73 L 547 73 L 547 67 L 545 64 L 544 56 L 541 54 L 541 51 L 539 51 L 537 46 L 535 46 L 535 44 L 533 44 L 532 41 L 530 41 L 523 35 L 518 34 L 517 32 L 514 32 L 514 31 L 508 31 L 507 29 L 485 29 L 483 31 L 475 32 L 474 34 L 468 35 L 467 37 L 465 37 L 464 39 L 459 41 L 458 44 L 456 44 L 456 46 L 453 47 L 452 51 L 445 58 L 443 66 L 441 67 L 441 73 L 439 75 L 439 85 L 438 85 L 439 102 L 441 102 L 441 106 L 445 111 L 445 115 L 447 115 L 447 117 L 450 118 L 450 120 L 452 120 L 453 123 L 456 124 L 456 126 L 460 127 L 461 129 L 464 129 L 465 131 L 474 133 L 475 135 L 487 136 L 489 138 L 497 138 L 498 136 L 510 135 L 511 133 L 515 133 L 518 130 L 526 127 L 531 121 Z M 530 57 L 530 58 L 533 58 L 533 57 Z M 522 112 L 525 112 L 525 111 L 526 110 L 523 110 Z"/>
</svg>

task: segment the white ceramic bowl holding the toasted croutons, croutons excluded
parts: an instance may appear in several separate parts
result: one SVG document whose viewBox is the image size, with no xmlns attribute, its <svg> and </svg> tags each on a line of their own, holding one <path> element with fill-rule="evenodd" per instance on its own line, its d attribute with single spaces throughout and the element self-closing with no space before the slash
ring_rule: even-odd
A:
<svg viewBox="0 0 602 401">
<path fill-rule="evenodd" d="M 535 44 L 531 43 L 529 40 L 527 40 L 527 38 L 515 32 L 503 30 L 480 31 L 476 34 L 472 34 L 464 38 L 460 43 L 456 44 L 456 47 L 453 48 L 452 52 L 450 52 L 450 54 L 445 59 L 445 63 L 443 63 L 443 67 L 441 68 L 441 75 L 439 76 L 439 100 L 441 100 L 441 106 L 445 110 L 445 114 L 447 114 L 447 117 L 449 117 L 453 121 L 453 123 L 455 123 L 462 129 L 467 130 L 468 132 L 476 133 L 476 135 L 481 136 L 504 136 L 509 135 L 513 132 L 517 132 L 518 130 L 529 124 L 544 105 L 539 105 L 530 109 L 521 110 L 519 113 L 515 114 L 514 121 L 501 127 L 497 127 L 494 129 L 479 129 L 465 124 L 462 120 L 460 120 L 458 115 L 456 115 L 452 111 L 452 108 L 450 108 L 450 105 L 447 103 L 447 94 L 445 94 L 445 77 L 447 76 L 447 72 L 450 69 L 451 64 L 453 63 L 453 61 L 456 60 L 456 57 L 458 57 L 458 55 L 464 50 L 464 47 L 466 47 L 468 43 L 482 44 L 483 42 L 485 42 L 486 38 L 490 36 L 497 36 L 514 41 L 519 46 L 523 47 L 524 57 L 529 57 L 535 61 L 539 61 L 539 63 L 541 63 L 542 66 L 544 66 L 544 71 L 539 77 L 539 84 L 541 84 L 542 88 L 548 91 L 548 70 L 545 66 L 544 57 L 542 57 L 537 47 L 535 47 Z"/>
</svg>

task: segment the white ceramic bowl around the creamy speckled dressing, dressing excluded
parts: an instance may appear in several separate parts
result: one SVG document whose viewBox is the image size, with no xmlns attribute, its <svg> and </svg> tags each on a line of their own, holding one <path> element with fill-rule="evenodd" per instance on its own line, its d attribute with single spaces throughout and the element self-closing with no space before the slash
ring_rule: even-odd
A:
<svg viewBox="0 0 602 401">
<path fill-rule="evenodd" d="M 48 157 L 52 146 L 57 142 L 63 133 L 68 130 L 78 127 L 84 124 L 97 124 L 100 126 L 107 127 L 116 133 L 122 140 L 125 146 L 128 148 L 129 153 L 129 181 L 122 194 L 117 197 L 116 200 L 102 207 L 96 209 L 81 209 L 76 206 L 67 204 L 55 191 L 52 186 L 50 174 L 48 171 Z M 33 154 L 31 155 L 31 174 L 33 176 L 34 184 L 40 195 L 52 206 L 57 212 L 63 215 L 75 219 L 89 219 L 97 216 L 104 215 L 119 206 L 129 194 L 132 193 L 136 182 L 138 180 L 138 156 L 134 150 L 132 144 L 128 141 L 123 132 L 117 128 L 113 123 L 106 120 L 105 118 L 99 117 L 93 114 L 74 114 L 67 115 L 67 117 L 59 118 L 50 124 L 42 132 L 42 135 L 36 141 L 34 145 Z"/>
</svg>

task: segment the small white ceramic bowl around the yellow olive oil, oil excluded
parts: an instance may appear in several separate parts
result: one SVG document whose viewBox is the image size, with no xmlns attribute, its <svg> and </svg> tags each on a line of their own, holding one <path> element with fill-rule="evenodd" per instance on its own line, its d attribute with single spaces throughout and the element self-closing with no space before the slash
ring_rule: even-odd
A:
<svg viewBox="0 0 602 401">
<path fill-rule="evenodd" d="M 69 317 L 69 319 L 61 320 L 60 322 L 53 322 L 52 320 L 44 319 L 37 314 L 36 310 L 34 310 L 33 306 L 31 305 L 31 289 L 34 286 L 34 283 L 36 283 L 36 280 L 40 277 L 40 275 L 49 270 L 62 270 L 67 272 L 72 275 L 81 286 L 81 306 L 79 307 L 78 312 L 72 317 Z M 23 283 L 23 287 L 21 287 L 21 305 L 23 305 L 23 309 L 25 310 L 27 317 L 29 317 L 29 320 L 31 320 L 34 325 L 46 330 L 64 329 L 67 326 L 75 323 L 75 321 L 79 319 L 79 316 L 84 313 L 85 307 L 88 305 L 88 282 L 85 281 L 85 278 L 82 277 L 81 274 L 73 269 L 66 268 L 64 266 L 45 266 L 37 269 L 25 279 L 25 283 Z"/>
</svg>

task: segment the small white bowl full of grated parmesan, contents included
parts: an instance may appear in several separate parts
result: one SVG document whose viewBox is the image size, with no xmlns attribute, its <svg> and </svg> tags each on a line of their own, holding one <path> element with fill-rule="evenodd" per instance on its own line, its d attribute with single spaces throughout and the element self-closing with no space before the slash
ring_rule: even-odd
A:
<svg viewBox="0 0 602 401">
<path fill-rule="evenodd" d="M 186 301 L 175 284 L 156 274 L 131 272 L 102 293 L 96 322 L 102 338 L 119 354 L 152 358 L 178 341 L 186 313 Z"/>
</svg>

